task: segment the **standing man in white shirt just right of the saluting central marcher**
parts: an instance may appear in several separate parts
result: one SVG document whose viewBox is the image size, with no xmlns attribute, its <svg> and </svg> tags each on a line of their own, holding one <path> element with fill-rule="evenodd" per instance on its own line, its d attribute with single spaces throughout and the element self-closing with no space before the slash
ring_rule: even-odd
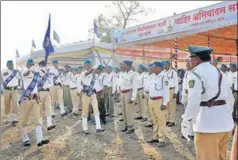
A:
<svg viewBox="0 0 238 160">
<path fill-rule="evenodd" d="M 132 61 L 124 61 L 125 74 L 121 82 L 121 106 L 123 108 L 124 129 L 122 132 L 130 134 L 134 132 L 133 105 L 137 96 L 137 77 L 132 71 Z"/>
</svg>

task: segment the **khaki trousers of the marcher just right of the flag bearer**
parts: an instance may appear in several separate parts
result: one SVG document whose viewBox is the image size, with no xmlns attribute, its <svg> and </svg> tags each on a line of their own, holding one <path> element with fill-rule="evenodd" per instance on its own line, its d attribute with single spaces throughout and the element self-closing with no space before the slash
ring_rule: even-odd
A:
<svg viewBox="0 0 238 160">
<path fill-rule="evenodd" d="M 53 104 L 64 105 L 63 89 L 60 86 L 51 87 L 50 95 L 51 95 Z"/>
</svg>

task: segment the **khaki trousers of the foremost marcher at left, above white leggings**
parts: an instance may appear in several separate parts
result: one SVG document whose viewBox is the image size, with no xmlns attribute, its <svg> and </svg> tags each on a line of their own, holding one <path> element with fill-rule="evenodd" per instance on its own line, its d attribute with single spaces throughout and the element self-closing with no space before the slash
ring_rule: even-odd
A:
<svg viewBox="0 0 238 160">
<path fill-rule="evenodd" d="M 40 124 L 40 105 L 36 100 L 23 100 L 23 122 L 22 127 L 27 126 L 29 117 L 32 117 L 32 122 L 35 126 Z"/>
</svg>

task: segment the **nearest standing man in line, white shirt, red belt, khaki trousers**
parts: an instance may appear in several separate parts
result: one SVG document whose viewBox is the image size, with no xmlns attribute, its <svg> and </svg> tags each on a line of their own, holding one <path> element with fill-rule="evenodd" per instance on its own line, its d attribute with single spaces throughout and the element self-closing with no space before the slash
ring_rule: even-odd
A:
<svg viewBox="0 0 238 160">
<path fill-rule="evenodd" d="M 162 62 L 154 62 L 154 76 L 149 87 L 149 106 L 153 120 L 153 139 L 149 143 L 158 143 L 158 147 L 165 145 L 166 108 L 169 102 L 169 80 L 161 71 Z"/>
</svg>

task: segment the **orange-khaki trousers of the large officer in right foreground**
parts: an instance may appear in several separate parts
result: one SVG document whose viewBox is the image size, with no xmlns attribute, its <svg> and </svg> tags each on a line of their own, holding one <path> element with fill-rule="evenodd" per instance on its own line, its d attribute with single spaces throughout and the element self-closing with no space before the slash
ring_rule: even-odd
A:
<svg viewBox="0 0 238 160">
<path fill-rule="evenodd" d="M 194 134 L 194 145 L 198 160 L 227 160 L 229 132 Z"/>
</svg>

